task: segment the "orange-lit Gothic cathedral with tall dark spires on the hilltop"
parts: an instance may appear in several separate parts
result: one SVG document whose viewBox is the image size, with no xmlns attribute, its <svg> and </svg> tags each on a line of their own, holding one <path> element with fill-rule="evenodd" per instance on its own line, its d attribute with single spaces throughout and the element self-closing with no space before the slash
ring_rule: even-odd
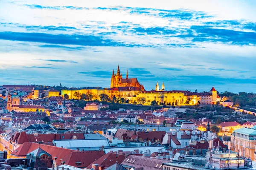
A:
<svg viewBox="0 0 256 170">
<path fill-rule="evenodd" d="M 140 91 L 144 91 L 143 84 L 140 84 L 137 78 L 128 78 L 128 70 L 126 72 L 126 78 L 123 79 L 122 74 L 120 74 L 119 65 L 118 65 L 116 74 L 114 74 L 114 70 L 113 70 L 110 88 L 119 88 L 119 87 L 137 87 L 137 88 L 140 88 Z"/>
</svg>

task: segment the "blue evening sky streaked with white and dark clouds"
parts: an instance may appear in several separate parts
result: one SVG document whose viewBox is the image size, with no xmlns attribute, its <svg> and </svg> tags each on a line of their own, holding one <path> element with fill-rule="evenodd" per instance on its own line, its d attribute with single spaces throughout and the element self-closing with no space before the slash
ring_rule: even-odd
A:
<svg viewBox="0 0 256 170">
<path fill-rule="evenodd" d="M 0 0 L 1 84 L 256 92 L 254 0 Z"/>
</svg>

